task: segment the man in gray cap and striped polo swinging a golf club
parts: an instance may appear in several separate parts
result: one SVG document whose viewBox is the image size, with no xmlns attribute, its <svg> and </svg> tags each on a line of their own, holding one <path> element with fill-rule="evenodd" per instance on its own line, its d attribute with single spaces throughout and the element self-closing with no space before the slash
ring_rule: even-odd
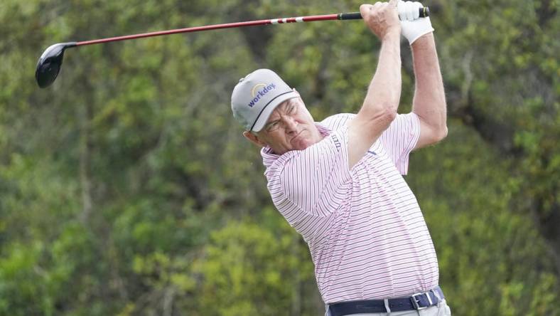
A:
<svg viewBox="0 0 560 316">
<path fill-rule="evenodd" d="M 447 135 L 434 28 L 418 19 L 421 7 L 360 6 L 381 48 L 357 114 L 315 122 L 298 92 L 267 69 L 239 80 L 232 93 L 244 136 L 262 147 L 274 205 L 308 243 L 326 315 L 451 315 L 434 244 L 402 177 L 410 152 Z M 403 115 L 401 33 L 416 80 L 412 112 Z"/>
</svg>

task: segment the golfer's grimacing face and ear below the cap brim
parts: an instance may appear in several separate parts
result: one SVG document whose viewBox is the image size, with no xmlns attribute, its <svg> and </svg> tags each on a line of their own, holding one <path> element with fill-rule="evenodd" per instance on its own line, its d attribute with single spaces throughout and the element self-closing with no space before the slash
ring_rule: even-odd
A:
<svg viewBox="0 0 560 316">
<path fill-rule="evenodd" d="M 277 106 L 266 125 L 256 135 L 247 134 L 251 133 L 244 134 L 249 140 L 263 147 L 268 145 L 275 154 L 306 149 L 323 139 L 313 117 L 299 97 Z"/>
</svg>

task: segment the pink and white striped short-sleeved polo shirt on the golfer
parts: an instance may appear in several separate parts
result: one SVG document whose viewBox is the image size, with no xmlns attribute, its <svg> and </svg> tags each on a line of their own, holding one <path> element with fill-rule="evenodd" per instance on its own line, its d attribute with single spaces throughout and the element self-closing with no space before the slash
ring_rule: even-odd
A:
<svg viewBox="0 0 560 316">
<path fill-rule="evenodd" d="M 346 123 L 316 123 L 325 137 L 281 156 L 261 151 L 272 201 L 308 243 L 323 301 L 402 297 L 438 285 L 434 244 L 404 181 L 420 134 L 414 113 L 397 115 L 348 169 Z"/>
</svg>

